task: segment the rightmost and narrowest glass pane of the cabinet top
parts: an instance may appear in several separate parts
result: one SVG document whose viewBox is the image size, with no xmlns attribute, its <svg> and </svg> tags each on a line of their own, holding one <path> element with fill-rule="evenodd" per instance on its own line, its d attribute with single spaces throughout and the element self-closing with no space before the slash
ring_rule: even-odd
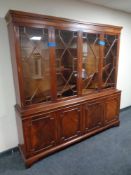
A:
<svg viewBox="0 0 131 175">
<path fill-rule="evenodd" d="M 115 86 L 115 69 L 117 58 L 117 36 L 105 35 L 103 87 Z"/>
</svg>

